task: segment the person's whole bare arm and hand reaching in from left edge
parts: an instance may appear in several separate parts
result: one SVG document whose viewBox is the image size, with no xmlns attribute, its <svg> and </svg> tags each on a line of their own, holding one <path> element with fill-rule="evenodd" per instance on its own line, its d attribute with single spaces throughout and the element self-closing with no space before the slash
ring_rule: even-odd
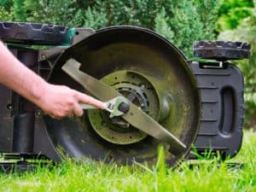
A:
<svg viewBox="0 0 256 192">
<path fill-rule="evenodd" d="M 106 108 L 103 102 L 67 86 L 49 84 L 25 67 L 0 42 L 0 83 L 34 102 L 45 113 L 61 118 L 83 114 L 79 102 Z"/>
</svg>

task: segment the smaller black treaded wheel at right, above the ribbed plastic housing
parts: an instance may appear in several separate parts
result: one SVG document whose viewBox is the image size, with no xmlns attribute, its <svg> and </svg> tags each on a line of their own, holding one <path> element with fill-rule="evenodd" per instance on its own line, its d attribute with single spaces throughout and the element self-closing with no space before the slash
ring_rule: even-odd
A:
<svg viewBox="0 0 256 192">
<path fill-rule="evenodd" d="M 231 41 L 195 41 L 194 56 L 217 61 L 241 60 L 250 56 L 250 44 Z"/>
</svg>

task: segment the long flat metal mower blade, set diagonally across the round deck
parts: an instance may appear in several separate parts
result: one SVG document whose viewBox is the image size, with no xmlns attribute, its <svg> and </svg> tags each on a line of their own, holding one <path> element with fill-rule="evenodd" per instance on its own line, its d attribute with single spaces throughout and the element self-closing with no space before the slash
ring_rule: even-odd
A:
<svg viewBox="0 0 256 192">
<path fill-rule="evenodd" d="M 100 80 L 95 79 L 79 70 L 81 64 L 74 59 L 69 59 L 63 66 L 62 70 L 67 73 L 71 78 L 81 84 L 85 90 L 90 91 L 93 96 L 96 96 L 102 102 L 106 102 L 113 97 L 122 96 L 117 90 L 114 90 L 108 84 L 102 83 Z M 170 144 L 169 151 L 174 155 L 183 154 L 187 147 L 179 139 L 172 135 L 169 131 L 152 119 L 148 114 L 144 113 L 141 109 L 137 108 L 135 104 L 128 101 L 130 110 L 125 113 L 122 118 L 129 124 L 137 127 L 137 129 L 147 133 L 163 143 Z"/>
</svg>

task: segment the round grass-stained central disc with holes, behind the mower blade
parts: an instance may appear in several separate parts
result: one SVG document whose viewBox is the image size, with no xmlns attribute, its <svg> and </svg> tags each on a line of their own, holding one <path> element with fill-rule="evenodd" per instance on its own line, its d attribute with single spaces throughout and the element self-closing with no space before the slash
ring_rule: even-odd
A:
<svg viewBox="0 0 256 192">
<path fill-rule="evenodd" d="M 115 90 L 128 98 L 131 102 L 148 113 L 152 118 L 158 119 L 160 98 L 153 84 L 143 75 L 131 71 L 118 71 L 110 73 L 102 82 L 111 85 Z M 121 117 L 109 118 L 109 113 L 102 110 L 90 110 L 88 113 L 90 124 L 94 131 L 110 143 L 131 144 L 137 143 L 147 137 L 123 120 Z"/>
</svg>

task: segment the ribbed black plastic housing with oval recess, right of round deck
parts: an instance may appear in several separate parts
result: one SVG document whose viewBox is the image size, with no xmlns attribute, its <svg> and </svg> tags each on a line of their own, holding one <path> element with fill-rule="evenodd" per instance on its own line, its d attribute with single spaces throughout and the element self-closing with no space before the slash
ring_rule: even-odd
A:
<svg viewBox="0 0 256 192">
<path fill-rule="evenodd" d="M 218 63 L 217 63 L 218 64 Z M 224 68 L 204 68 L 191 62 L 201 92 L 201 128 L 195 148 L 202 156 L 205 152 L 235 156 L 241 148 L 242 123 L 245 109 L 243 77 L 233 64 Z M 194 155 L 188 158 L 194 159 Z"/>
</svg>

